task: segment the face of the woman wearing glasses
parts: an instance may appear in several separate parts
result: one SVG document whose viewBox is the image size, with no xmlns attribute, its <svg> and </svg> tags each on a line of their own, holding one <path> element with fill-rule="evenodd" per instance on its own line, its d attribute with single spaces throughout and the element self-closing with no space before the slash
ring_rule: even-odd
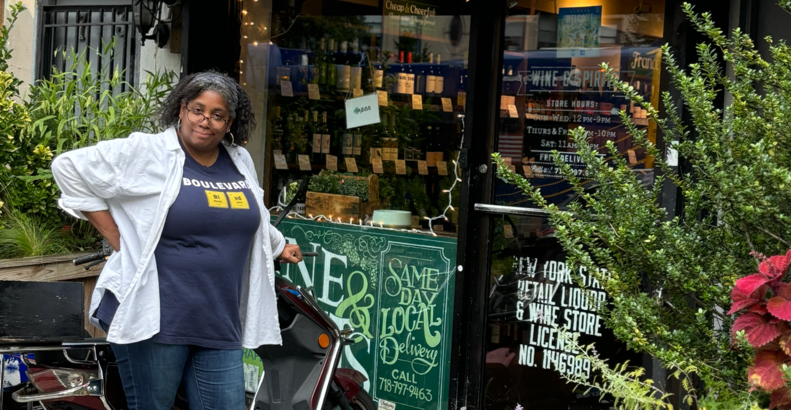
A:
<svg viewBox="0 0 791 410">
<path fill-rule="evenodd" d="M 225 99 L 214 91 L 201 92 L 195 100 L 181 103 L 179 117 L 181 141 L 196 152 L 214 152 L 233 122 Z"/>
</svg>

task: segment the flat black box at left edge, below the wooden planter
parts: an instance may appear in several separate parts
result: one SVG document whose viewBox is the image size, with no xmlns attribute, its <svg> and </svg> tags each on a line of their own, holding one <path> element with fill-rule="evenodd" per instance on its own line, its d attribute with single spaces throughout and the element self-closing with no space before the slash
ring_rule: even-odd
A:
<svg viewBox="0 0 791 410">
<path fill-rule="evenodd" d="M 0 340 L 79 340 L 83 299 L 78 282 L 0 280 Z"/>
</svg>

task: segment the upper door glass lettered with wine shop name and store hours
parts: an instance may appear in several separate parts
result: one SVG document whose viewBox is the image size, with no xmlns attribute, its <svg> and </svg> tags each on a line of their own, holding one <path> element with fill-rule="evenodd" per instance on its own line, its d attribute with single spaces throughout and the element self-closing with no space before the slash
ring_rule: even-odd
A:
<svg viewBox="0 0 791 410">
<path fill-rule="evenodd" d="M 652 182 L 653 160 L 634 146 L 619 111 L 626 110 L 651 141 L 656 141 L 657 126 L 607 81 L 600 64 L 614 67 L 622 81 L 658 107 L 663 22 L 664 2 L 653 0 L 523 0 L 510 10 L 495 150 L 540 186 L 547 200 L 565 205 L 576 195 L 554 163 L 553 150 L 589 180 L 568 135 L 579 126 L 602 156 L 608 154 L 604 144 L 615 142 L 638 178 Z M 594 185 L 589 180 L 589 188 Z M 505 184 L 498 186 L 497 201 L 530 206 Z"/>
</svg>

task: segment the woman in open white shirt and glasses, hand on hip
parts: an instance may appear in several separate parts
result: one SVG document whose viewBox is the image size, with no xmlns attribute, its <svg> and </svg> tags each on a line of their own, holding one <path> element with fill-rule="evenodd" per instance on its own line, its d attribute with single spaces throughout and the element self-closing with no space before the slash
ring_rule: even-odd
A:
<svg viewBox="0 0 791 410">
<path fill-rule="evenodd" d="M 63 153 L 59 205 L 89 220 L 115 253 L 91 300 L 131 410 L 244 408 L 242 347 L 281 344 L 274 258 L 302 260 L 269 224 L 250 154 L 248 96 L 214 72 L 165 100 L 161 134 Z"/>
</svg>

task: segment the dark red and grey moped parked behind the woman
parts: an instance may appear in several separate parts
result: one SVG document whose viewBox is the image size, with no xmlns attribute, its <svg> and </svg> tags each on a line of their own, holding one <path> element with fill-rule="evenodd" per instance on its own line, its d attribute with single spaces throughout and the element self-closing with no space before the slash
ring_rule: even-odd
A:
<svg viewBox="0 0 791 410">
<path fill-rule="evenodd" d="M 278 198 L 283 209 L 273 224 L 275 227 L 290 213 L 306 187 L 301 180 L 283 188 Z M 101 263 L 110 254 L 112 248 L 105 242 L 102 250 L 74 259 L 74 264 Z M 339 329 L 316 303 L 311 289 L 294 286 L 279 277 L 274 284 L 283 344 L 254 349 L 263 361 L 264 373 L 255 392 L 247 393 L 246 407 L 249 410 L 375 410 L 373 400 L 361 388 L 365 376 L 338 367 L 343 345 L 354 343 L 346 337 L 350 329 Z M 0 388 L 2 410 L 127 409 L 115 355 L 104 338 L 42 344 L 0 340 L 0 358 L 3 354 L 19 357 L 28 368 L 29 380 L 6 392 L 12 400 L 4 399 Z M 0 386 L 3 386 L 2 374 L 0 368 Z M 177 394 L 173 410 L 188 410 L 183 395 Z"/>
</svg>

